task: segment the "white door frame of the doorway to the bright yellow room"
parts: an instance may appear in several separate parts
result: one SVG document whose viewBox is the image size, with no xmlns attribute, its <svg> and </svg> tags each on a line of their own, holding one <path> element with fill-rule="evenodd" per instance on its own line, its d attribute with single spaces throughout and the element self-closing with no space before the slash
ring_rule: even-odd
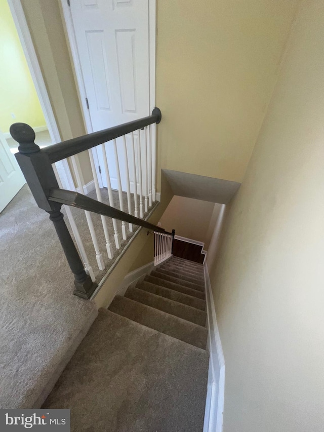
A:
<svg viewBox="0 0 324 432">
<path fill-rule="evenodd" d="M 26 61 L 32 77 L 32 81 L 36 89 L 39 103 L 41 104 L 43 110 L 46 125 L 49 130 L 49 134 L 51 136 L 53 143 L 61 142 L 62 139 L 60 137 L 60 133 L 56 124 L 55 116 L 53 113 L 49 95 L 47 93 L 41 67 L 39 67 L 38 59 L 32 43 L 32 38 L 29 32 L 29 28 L 21 5 L 21 1 L 8 0 L 8 4 L 10 7 L 10 11 L 14 23 L 16 25 L 20 43 L 22 45 L 22 49 L 26 57 Z M 68 189 L 70 190 L 75 190 L 74 182 L 72 179 L 72 175 L 67 160 L 64 159 L 63 161 L 56 162 L 56 165 L 57 164 L 61 164 L 63 168 L 62 170 L 60 170 L 61 173 L 60 178 L 62 180 L 63 185 L 66 185 L 66 187 L 68 187 Z M 62 175 L 64 176 L 64 178 L 62 178 Z"/>
</svg>

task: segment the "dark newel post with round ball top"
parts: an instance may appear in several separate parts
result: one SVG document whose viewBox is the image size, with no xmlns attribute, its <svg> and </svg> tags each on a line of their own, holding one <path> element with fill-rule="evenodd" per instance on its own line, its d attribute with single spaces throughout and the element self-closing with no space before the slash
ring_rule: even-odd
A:
<svg viewBox="0 0 324 432">
<path fill-rule="evenodd" d="M 74 274 L 74 294 L 90 298 L 97 285 L 91 281 L 84 269 L 64 222 L 64 215 L 61 212 L 62 204 L 48 201 L 50 189 L 59 187 L 49 156 L 35 144 L 35 132 L 29 125 L 15 123 L 10 127 L 10 134 L 19 143 L 19 152 L 15 156 L 20 169 L 38 207 L 49 213 L 70 269 Z M 39 239 L 39 241 L 44 240 Z"/>
</svg>

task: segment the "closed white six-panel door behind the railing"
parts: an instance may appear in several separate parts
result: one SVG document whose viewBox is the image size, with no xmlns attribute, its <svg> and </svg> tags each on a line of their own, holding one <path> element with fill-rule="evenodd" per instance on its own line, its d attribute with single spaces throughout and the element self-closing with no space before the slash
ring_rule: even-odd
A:
<svg viewBox="0 0 324 432">
<path fill-rule="evenodd" d="M 70 9 L 93 131 L 149 115 L 148 0 L 70 0 Z M 134 139 L 137 146 L 137 133 Z M 126 190 L 122 140 L 117 139 L 117 149 L 121 184 Z M 131 135 L 126 137 L 126 141 L 131 155 Z M 142 139 L 141 146 L 144 145 L 145 140 Z M 116 189 L 117 172 L 112 142 L 106 143 L 106 152 L 111 185 Z M 100 147 L 98 160 L 103 171 Z M 129 169 L 131 189 L 134 189 L 132 164 Z M 101 180 L 107 186 L 104 175 Z"/>
</svg>

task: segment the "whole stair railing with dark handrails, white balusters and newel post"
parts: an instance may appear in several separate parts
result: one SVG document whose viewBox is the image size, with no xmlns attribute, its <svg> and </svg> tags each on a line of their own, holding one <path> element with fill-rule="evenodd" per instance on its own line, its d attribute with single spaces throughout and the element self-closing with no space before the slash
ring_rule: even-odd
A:
<svg viewBox="0 0 324 432">
<path fill-rule="evenodd" d="M 152 166 L 155 167 L 155 160 L 147 160 L 147 154 L 155 154 L 155 151 L 152 151 L 151 148 L 152 142 L 150 125 L 153 125 L 154 123 L 158 124 L 160 121 L 161 112 L 158 108 L 154 108 L 152 114 L 144 117 L 143 119 L 108 128 L 99 132 L 94 132 L 88 135 L 80 136 L 78 138 L 66 140 L 42 149 L 39 148 L 37 144 L 35 144 L 35 132 L 29 125 L 26 125 L 24 123 L 15 123 L 10 128 L 11 136 L 19 143 L 18 153 L 16 153 L 15 155 L 17 162 L 25 176 L 26 182 L 31 190 L 31 193 L 33 194 L 33 197 L 38 207 L 45 210 L 50 215 L 50 220 L 55 226 L 66 259 L 72 273 L 74 274 L 74 294 L 80 297 L 90 298 L 97 285 L 95 283 L 94 272 L 89 264 L 84 245 L 82 243 L 79 231 L 76 227 L 69 207 L 78 207 L 85 210 L 89 231 L 96 253 L 96 260 L 100 270 L 103 270 L 105 268 L 105 263 L 99 250 L 96 231 L 91 218 L 92 213 L 97 213 L 101 215 L 102 226 L 106 239 L 108 258 L 112 258 L 112 248 L 105 220 L 105 217 L 107 216 L 112 218 L 114 241 L 117 249 L 120 248 L 120 241 L 116 220 L 120 220 L 122 222 L 121 233 L 124 240 L 127 239 L 126 223 L 129 224 L 130 232 L 133 231 L 133 224 L 147 228 L 149 230 L 153 230 L 156 233 L 155 235 L 158 236 L 158 239 L 155 242 L 156 247 L 154 245 L 154 255 L 155 253 L 157 254 L 157 256 L 159 257 L 159 262 L 163 260 L 162 257 L 166 259 L 167 256 L 170 256 L 168 255 L 170 254 L 170 250 L 172 249 L 172 242 L 170 242 L 170 236 L 172 237 L 173 234 L 165 231 L 159 226 L 153 225 L 137 217 L 139 212 L 140 217 L 143 218 L 144 212 L 147 212 L 149 207 L 155 201 L 155 176 L 151 175 Z M 143 129 L 144 132 L 141 133 L 141 130 Z M 134 132 L 137 132 L 137 146 L 135 145 Z M 126 145 L 126 136 L 128 134 L 131 138 L 131 154 L 127 149 Z M 145 151 L 141 151 L 141 137 L 144 141 L 143 144 Z M 124 145 L 120 144 L 120 140 L 117 143 L 118 138 L 121 138 Z M 111 166 L 111 161 L 108 161 L 106 155 L 105 143 L 111 141 L 113 142 L 114 147 L 120 210 L 114 208 L 112 187 L 108 167 L 108 165 Z M 96 148 L 96 146 L 101 147 L 104 155 L 104 171 L 107 180 L 109 206 L 107 204 L 104 204 L 101 198 L 101 190 L 99 187 L 98 176 L 95 169 L 93 153 L 91 151 L 91 149 Z M 125 156 L 127 201 L 129 213 L 124 212 L 123 208 L 123 190 L 121 188 L 120 167 L 118 162 L 120 159 L 120 151 L 123 151 L 123 149 Z M 81 180 L 82 175 L 79 171 L 77 160 L 75 159 L 76 154 L 85 150 L 89 151 L 97 200 L 93 200 L 85 195 L 85 189 Z M 142 158 L 142 153 L 146 155 L 144 160 Z M 71 161 L 71 164 L 73 166 L 73 173 L 79 192 L 64 190 L 60 187 L 61 183 L 54 164 L 55 162 L 61 161 L 66 158 L 70 158 L 69 160 Z M 132 208 L 130 199 L 130 167 L 128 161 L 131 161 L 132 164 L 130 165 L 133 166 L 133 189 L 135 204 L 134 216 L 130 214 L 132 212 Z M 146 181 L 145 183 L 145 179 L 150 179 L 149 183 L 148 181 Z M 63 204 L 69 206 L 66 208 L 66 213 L 70 221 L 74 238 L 82 258 L 80 258 L 75 244 L 72 240 L 71 234 L 65 224 L 64 215 L 61 212 L 61 207 Z M 164 240 L 161 240 L 160 238 L 162 234 L 164 236 Z"/>
</svg>

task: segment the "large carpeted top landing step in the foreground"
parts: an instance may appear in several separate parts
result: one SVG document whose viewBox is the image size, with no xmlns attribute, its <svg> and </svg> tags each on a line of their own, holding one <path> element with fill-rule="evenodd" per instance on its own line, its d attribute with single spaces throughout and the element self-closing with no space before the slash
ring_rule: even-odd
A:
<svg viewBox="0 0 324 432">
<path fill-rule="evenodd" d="M 100 309 L 43 408 L 70 409 L 71 432 L 202 431 L 208 362 L 203 349 Z"/>
</svg>

